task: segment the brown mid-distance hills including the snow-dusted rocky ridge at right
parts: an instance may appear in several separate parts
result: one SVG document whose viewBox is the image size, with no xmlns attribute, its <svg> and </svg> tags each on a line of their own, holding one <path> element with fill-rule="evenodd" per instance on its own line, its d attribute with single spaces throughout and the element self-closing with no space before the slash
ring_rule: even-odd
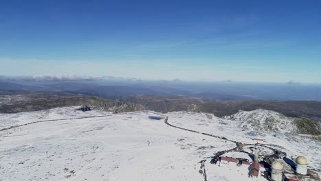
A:
<svg viewBox="0 0 321 181">
<path fill-rule="evenodd" d="M 239 128 L 243 129 L 315 135 L 321 132 L 321 102 L 319 101 L 254 99 L 222 101 L 163 95 L 134 95 L 113 100 L 47 91 L 0 91 L 0 113 L 29 112 L 67 106 L 88 106 L 88 110 L 110 112 L 137 110 L 209 112 L 217 117 L 237 121 Z"/>
</svg>

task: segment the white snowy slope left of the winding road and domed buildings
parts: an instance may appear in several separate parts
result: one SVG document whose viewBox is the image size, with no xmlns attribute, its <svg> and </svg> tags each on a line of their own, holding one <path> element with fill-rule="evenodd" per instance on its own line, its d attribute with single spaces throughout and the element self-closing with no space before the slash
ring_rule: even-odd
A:
<svg viewBox="0 0 321 181">
<path fill-rule="evenodd" d="M 42 115 L 41 119 L 74 114 L 64 110 L 34 114 Z M 19 118 L 27 122 L 32 114 L 22 113 Z M 0 132 L 0 180 L 202 180 L 198 162 L 213 152 L 235 147 L 217 138 L 176 130 L 164 120 L 149 119 L 151 115 L 113 114 Z"/>
</svg>

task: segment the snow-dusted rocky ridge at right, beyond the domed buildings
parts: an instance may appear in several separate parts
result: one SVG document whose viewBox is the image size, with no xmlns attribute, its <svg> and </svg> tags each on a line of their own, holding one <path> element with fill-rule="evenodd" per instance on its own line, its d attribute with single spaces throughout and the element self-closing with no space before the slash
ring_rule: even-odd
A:
<svg viewBox="0 0 321 181">
<path fill-rule="evenodd" d="M 239 110 L 236 114 L 226 116 L 224 119 L 237 121 L 239 126 L 248 130 L 261 130 L 267 132 L 294 132 L 296 119 L 272 110 L 257 109 L 252 111 Z"/>
</svg>

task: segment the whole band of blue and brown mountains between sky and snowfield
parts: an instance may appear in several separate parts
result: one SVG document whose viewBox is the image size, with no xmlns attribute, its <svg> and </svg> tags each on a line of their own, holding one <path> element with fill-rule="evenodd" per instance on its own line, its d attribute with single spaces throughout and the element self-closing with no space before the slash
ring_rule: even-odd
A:
<svg viewBox="0 0 321 181">
<path fill-rule="evenodd" d="M 2 82 L 1 82 L 2 81 Z M 0 77 L 0 112 L 84 106 L 126 112 L 273 110 L 287 117 L 321 120 L 321 86 L 235 82 L 145 81 L 115 77 Z M 8 96 L 9 97 L 5 97 Z"/>
</svg>

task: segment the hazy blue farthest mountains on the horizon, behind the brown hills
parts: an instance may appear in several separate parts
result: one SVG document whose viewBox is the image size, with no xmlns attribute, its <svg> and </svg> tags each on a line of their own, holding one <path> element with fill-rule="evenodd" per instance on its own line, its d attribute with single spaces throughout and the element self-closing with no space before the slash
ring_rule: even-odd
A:
<svg viewBox="0 0 321 181">
<path fill-rule="evenodd" d="M 43 80 L 43 79 L 40 79 Z M 321 86 L 313 84 L 254 84 L 235 82 L 182 82 L 130 80 L 2 80 L 0 90 L 50 91 L 124 99 L 135 95 L 185 96 L 202 99 L 269 99 L 321 101 Z M 69 80 L 69 81 L 65 81 Z M 5 81 L 5 82 L 4 82 Z"/>
</svg>

